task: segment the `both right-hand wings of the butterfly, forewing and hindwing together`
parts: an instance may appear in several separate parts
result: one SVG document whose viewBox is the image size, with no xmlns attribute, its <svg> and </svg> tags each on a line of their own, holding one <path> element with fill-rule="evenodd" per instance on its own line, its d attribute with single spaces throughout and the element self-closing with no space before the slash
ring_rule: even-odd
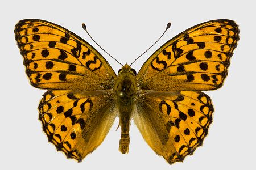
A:
<svg viewBox="0 0 256 170">
<path fill-rule="evenodd" d="M 139 70 L 134 121 L 148 145 L 170 164 L 202 145 L 213 106 L 199 90 L 222 86 L 238 33 L 232 20 L 196 25 L 166 42 Z"/>
</svg>

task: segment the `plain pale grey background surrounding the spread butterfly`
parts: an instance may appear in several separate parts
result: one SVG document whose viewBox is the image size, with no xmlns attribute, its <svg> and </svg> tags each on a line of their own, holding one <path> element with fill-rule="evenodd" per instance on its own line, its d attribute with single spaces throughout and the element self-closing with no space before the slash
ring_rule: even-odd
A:
<svg viewBox="0 0 256 170">
<path fill-rule="evenodd" d="M 253 1 L 6 1 L 1 4 L 1 169 L 255 169 L 255 4 Z M 206 92 L 214 117 L 202 147 L 184 163 L 169 165 L 144 142 L 134 122 L 129 154 L 118 151 L 118 119 L 100 147 L 81 163 L 66 159 L 47 142 L 38 120 L 44 90 L 30 86 L 23 58 L 14 40 L 22 19 L 49 20 L 93 45 L 117 72 L 121 67 L 89 39 L 94 39 L 121 63 L 131 63 L 151 46 L 172 22 L 166 35 L 133 67 L 139 70 L 164 42 L 212 19 L 232 19 L 240 25 L 224 86 Z"/>
</svg>

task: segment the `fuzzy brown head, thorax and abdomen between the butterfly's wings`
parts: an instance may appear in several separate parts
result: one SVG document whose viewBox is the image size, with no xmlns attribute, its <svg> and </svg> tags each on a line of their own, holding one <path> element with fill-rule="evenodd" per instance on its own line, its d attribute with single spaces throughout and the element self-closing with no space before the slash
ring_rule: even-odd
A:
<svg viewBox="0 0 256 170">
<path fill-rule="evenodd" d="M 121 139 L 119 151 L 125 154 L 129 150 L 129 129 L 131 116 L 135 109 L 134 97 L 137 91 L 136 71 L 129 65 L 125 65 L 118 71 L 114 92 L 119 109 L 119 125 L 121 126 Z"/>
</svg>

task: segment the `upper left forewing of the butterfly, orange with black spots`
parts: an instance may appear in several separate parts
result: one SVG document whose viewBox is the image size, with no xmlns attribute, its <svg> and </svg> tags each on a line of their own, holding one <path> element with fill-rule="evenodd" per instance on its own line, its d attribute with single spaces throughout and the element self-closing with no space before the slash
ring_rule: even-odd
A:
<svg viewBox="0 0 256 170">
<path fill-rule="evenodd" d="M 19 21 L 14 32 L 32 86 L 89 91 L 113 87 L 112 67 L 75 33 L 38 19 Z"/>
</svg>

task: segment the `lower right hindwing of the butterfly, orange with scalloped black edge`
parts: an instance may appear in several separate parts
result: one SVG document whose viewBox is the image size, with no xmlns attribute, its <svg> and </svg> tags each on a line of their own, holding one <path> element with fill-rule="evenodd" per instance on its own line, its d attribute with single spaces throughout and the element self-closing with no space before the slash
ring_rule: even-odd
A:
<svg viewBox="0 0 256 170">
<path fill-rule="evenodd" d="M 203 92 L 139 91 L 134 121 L 143 138 L 168 163 L 183 162 L 202 145 L 213 106 Z"/>
</svg>

